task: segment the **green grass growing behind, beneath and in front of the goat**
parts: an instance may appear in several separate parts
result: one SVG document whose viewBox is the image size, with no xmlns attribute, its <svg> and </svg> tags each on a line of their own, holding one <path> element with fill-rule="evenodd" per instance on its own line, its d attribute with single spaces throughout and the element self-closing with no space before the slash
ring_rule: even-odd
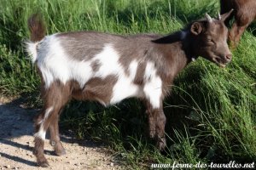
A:
<svg viewBox="0 0 256 170">
<path fill-rule="evenodd" d="M 2 0 L 0 6 L 0 93 L 38 101 L 39 79 L 22 42 L 28 37 L 30 14 L 44 15 L 48 33 L 94 30 L 117 34 L 167 34 L 218 13 L 218 0 Z M 253 25 L 255 26 L 255 25 Z M 255 30 L 253 26 L 250 30 Z M 117 161 L 129 168 L 151 163 L 255 161 L 256 38 L 247 31 L 225 69 L 197 59 L 175 80 L 165 100 L 168 147 L 160 153 L 147 138 L 144 108 L 137 99 L 103 108 L 71 102 L 61 115 L 61 127 L 79 139 L 104 142 Z M 40 106 L 40 101 L 37 102 Z"/>
</svg>

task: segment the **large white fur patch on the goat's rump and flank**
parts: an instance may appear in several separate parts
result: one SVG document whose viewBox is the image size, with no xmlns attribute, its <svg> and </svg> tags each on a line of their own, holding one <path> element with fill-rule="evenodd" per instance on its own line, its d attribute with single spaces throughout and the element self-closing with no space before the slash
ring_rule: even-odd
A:
<svg viewBox="0 0 256 170">
<path fill-rule="evenodd" d="M 84 83 L 92 76 L 90 62 L 70 59 L 55 35 L 45 37 L 44 41 L 38 44 L 37 59 L 45 88 L 49 88 L 56 79 L 63 84 L 70 80 L 76 80 L 80 87 L 83 87 Z"/>
</svg>

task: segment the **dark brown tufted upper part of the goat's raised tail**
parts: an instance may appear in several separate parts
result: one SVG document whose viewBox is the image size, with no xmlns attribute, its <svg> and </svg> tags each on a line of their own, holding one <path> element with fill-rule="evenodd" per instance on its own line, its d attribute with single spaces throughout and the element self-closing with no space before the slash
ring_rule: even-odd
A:
<svg viewBox="0 0 256 170">
<path fill-rule="evenodd" d="M 30 40 L 32 42 L 39 42 L 45 37 L 44 20 L 40 14 L 32 14 L 27 20 L 27 26 L 30 31 Z"/>
</svg>

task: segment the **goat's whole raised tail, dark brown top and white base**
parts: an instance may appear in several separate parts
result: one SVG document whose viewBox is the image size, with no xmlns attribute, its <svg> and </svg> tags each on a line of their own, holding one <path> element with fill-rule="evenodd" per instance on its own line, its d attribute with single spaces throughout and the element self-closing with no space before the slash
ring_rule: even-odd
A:
<svg viewBox="0 0 256 170">
<path fill-rule="evenodd" d="M 38 58 L 38 42 L 45 37 L 46 27 L 40 14 L 32 14 L 27 20 L 27 26 L 30 31 L 30 41 L 25 42 L 26 52 L 31 56 L 34 63 Z"/>
</svg>

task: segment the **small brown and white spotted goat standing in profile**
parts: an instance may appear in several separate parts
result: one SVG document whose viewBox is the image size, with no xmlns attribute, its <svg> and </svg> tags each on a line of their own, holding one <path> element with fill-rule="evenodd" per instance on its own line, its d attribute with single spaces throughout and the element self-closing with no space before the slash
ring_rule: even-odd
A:
<svg viewBox="0 0 256 170">
<path fill-rule="evenodd" d="M 166 147 L 166 116 L 162 101 L 173 79 L 198 56 L 224 67 L 231 60 L 224 20 L 196 20 L 183 31 L 160 35 L 119 36 L 95 31 L 44 35 L 37 15 L 28 20 L 31 41 L 27 52 L 37 65 L 42 81 L 44 108 L 35 119 L 33 154 L 38 165 L 48 167 L 44 156 L 45 133 L 55 154 L 65 150 L 59 137 L 58 117 L 70 99 L 96 100 L 102 105 L 122 99 L 143 99 L 147 108 L 149 136 L 157 147 Z"/>
</svg>

